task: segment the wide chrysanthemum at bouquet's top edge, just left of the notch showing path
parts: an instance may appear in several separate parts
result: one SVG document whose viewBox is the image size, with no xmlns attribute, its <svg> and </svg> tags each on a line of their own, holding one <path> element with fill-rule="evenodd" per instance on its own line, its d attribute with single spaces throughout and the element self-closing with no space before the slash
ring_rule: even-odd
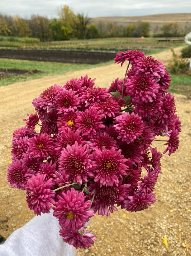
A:
<svg viewBox="0 0 191 256">
<path fill-rule="evenodd" d="M 100 102 L 110 96 L 106 88 L 91 87 L 87 88 L 80 96 L 82 102 L 86 102 L 85 107 L 88 107 L 91 103 Z"/>
</svg>

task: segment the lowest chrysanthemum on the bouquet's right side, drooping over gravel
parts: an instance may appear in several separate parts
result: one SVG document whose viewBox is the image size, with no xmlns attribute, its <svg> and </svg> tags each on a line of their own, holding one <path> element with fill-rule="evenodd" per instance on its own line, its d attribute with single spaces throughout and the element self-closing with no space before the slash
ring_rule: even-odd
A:
<svg viewBox="0 0 191 256">
<path fill-rule="evenodd" d="M 137 212 L 148 208 L 156 201 L 154 193 L 143 194 L 141 192 L 134 192 L 133 196 L 128 196 L 127 200 L 123 201 L 121 208 L 126 211 Z"/>
</svg>

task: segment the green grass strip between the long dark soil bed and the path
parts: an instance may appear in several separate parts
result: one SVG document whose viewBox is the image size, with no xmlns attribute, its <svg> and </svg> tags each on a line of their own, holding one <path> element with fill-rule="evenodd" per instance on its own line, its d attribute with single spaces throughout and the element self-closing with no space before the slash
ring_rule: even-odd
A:
<svg viewBox="0 0 191 256">
<path fill-rule="evenodd" d="M 64 74 L 66 72 L 72 72 L 76 70 L 82 70 L 92 67 L 103 66 L 106 64 L 113 63 L 106 62 L 96 65 L 91 64 L 69 64 L 69 63 L 58 63 L 58 62 L 38 62 L 38 61 L 28 61 L 28 60 L 16 60 L 16 59 L 0 59 L 0 68 L 16 68 L 16 69 L 27 69 L 27 70 L 38 70 L 38 73 L 34 73 L 30 76 L 11 76 L 0 80 L 1 85 L 9 85 L 14 82 L 27 81 L 30 79 L 40 78 L 43 76 L 52 76 Z"/>
</svg>

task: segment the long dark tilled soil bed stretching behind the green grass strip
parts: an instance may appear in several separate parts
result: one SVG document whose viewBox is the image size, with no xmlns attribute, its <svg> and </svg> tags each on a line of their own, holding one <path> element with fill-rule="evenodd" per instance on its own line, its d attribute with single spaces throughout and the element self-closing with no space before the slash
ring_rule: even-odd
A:
<svg viewBox="0 0 191 256">
<path fill-rule="evenodd" d="M 115 53 L 102 51 L 68 51 L 39 49 L 0 49 L 1 58 L 98 64 L 115 58 Z"/>
</svg>

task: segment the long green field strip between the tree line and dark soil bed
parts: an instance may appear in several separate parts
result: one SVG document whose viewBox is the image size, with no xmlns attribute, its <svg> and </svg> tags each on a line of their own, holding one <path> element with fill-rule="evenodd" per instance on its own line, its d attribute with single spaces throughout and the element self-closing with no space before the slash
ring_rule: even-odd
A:
<svg viewBox="0 0 191 256">
<path fill-rule="evenodd" d="M 157 38 L 105 38 L 89 40 L 68 40 L 52 42 L 18 42 L 0 41 L 1 48 L 20 49 L 67 49 L 67 50 L 101 50 L 101 51 L 126 51 L 127 49 L 142 50 L 145 54 L 158 53 L 170 47 L 181 46 L 181 42 L 158 42 Z"/>
</svg>

